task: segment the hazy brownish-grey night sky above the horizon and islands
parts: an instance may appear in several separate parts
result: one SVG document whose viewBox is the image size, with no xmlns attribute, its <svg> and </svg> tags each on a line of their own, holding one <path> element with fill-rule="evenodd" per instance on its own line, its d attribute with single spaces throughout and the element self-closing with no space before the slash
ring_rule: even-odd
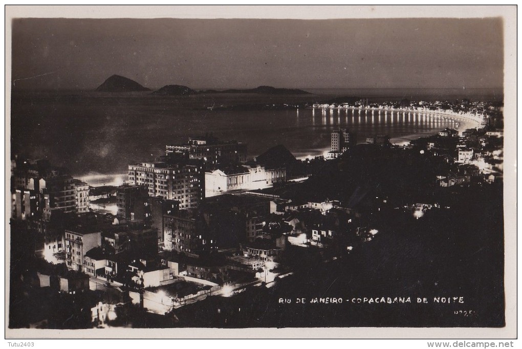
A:
<svg viewBox="0 0 522 349">
<path fill-rule="evenodd" d="M 501 88 L 502 19 L 16 19 L 15 89 Z"/>
</svg>

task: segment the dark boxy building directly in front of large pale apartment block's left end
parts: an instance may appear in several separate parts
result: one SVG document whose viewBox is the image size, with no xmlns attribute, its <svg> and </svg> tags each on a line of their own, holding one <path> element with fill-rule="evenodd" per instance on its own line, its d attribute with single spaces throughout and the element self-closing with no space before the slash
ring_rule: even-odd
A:
<svg viewBox="0 0 522 349">
<path fill-rule="evenodd" d="M 145 220 L 145 207 L 148 204 L 147 188 L 143 185 L 123 184 L 116 188 L 117 216 L 129 221 Z"/>
</svg>

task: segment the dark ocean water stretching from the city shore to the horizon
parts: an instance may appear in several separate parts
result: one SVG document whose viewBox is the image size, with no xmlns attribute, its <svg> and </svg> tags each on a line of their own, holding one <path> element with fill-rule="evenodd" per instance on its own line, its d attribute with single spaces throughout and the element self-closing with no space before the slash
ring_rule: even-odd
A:
<svg viewBox="0 0 522 349">
<path fill-rule="evenodd" d="M 394 141 L 432 134 L 445 127 L 465 129 L 460 120 L 408 119 L 352 111 L 210 110 L 259 104 L 300 104 L 337 97 L 369 98 L 372 102 L 409 100 L 502 100 L 490 89 L 306 89 L 307 95 L 196 94 L 160 96 L 150 92 L 14 91 L 11 96 L 11 153 L 47 158 L 67 167 L 91 185 L 121 181 L 129 163 L 153 159 L 168 143 L 189 136 L 214 136 L 248 143 L 249 157 L 282 144 L 296 157 L 322 154 L 330 133 L 348 127 L 358 141 L 376 134 Z M 458 124 L 457 124 L 458 123 Z"/>
</svg>

